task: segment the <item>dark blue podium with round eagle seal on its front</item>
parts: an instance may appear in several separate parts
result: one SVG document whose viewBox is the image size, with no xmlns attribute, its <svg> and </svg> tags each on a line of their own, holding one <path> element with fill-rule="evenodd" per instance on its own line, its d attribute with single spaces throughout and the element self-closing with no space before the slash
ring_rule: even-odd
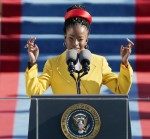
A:
<svg viewBox="0 0 150 139">
<path fill-rule="evenodd" d="M 76 109 L 76 106 L 80 104 L 85 105 L 84 108 L 87 108 L 83 111 L 89 110 L 90 107 L 92 108 L 90 112 L 94 112 L 94 109 L 99 115 L 99 129 L 94 139 L 132 138 L 127 95 L 49 95 L 32 96 L 31 98 L 28 139 L 92 139 L 90 134 L 94 132 L 95 128 L 92 128 L 93 125 L 91 125 L 91 123 L 94 122 L 92 122 L 92 120 L 90 121 L 89 118 L 87 118 L 90 122 L 88 126 L 85 126 L 84 124 L 84 129 L 86 129 L 84 130 L 84 133 L 77 132 L 73 120 L 69 119 L 68 121 L 65 121 L 66 124 L 71 124 L 71 128 L 74 129 L 77 134 L 84 134 L 83 136 L 77 135 L 77 137 L 76 135 L 74 135 L 75 137 L 67 137 L 65 135 L 65 132 L 69 132 L 66 134 L 74 133 L 70 131 L 70 128 L 69 130 L 64 131 L 63 128 L 66 128 L 68 125 L 63 125 L 62 117 L 63 115 L 65 115 L 65 119 L 71 117 L 71 115 L 75 113 L 72 112 L 69 115 L 72 107 L 75 106 L 74 109 Z M 80 108 L 82 109 L 82 107 Z M 77 111 L 80 112 L 76 115 L 81 115 L 82 111 Z M 67 114 L 68 116 L 66 116 Z M 93 121 L 94 120 L 95 119 L 93 118 Z M 85 121 L 87 124 L 87 120 L 84 119 L 84 123 Z M 88 130 L 89 133 L 87 133 Z"/>
</svg>

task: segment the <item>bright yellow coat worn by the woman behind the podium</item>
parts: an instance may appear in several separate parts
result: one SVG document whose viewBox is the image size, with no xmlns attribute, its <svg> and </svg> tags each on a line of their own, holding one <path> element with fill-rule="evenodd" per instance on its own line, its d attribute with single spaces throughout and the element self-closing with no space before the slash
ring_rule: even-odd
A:
<svg viewBox="0 0 150 139">
<path fill-rule="evenodd" d="M 81 78 L 81 94 L 99 94 L 102 84 L 116 94 L 128 94 L 132 83 L 133 70 L 128 64 L 120 66 L 120 73 L 111 71 L 103 56 L 92 54 L 90 71 Z M 76 83 L 68 72 L 66 51 L 48 59 L 43 73 L 38 77 L 38 65 L 26 69 L 26 92 L 31 95 L 43 94 L 51 86 L 54 94 L 77 94 Z M 75 74 L 75 77 L 77 75 Z"/>
</svg>

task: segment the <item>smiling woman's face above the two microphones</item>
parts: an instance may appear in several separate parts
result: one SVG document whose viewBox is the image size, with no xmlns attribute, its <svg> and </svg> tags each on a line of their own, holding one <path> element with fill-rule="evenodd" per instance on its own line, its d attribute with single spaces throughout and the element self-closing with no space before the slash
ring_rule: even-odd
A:
<svg viewBox="0 0 150 139">
<path fill-rule="evenodd" d="M 67 29 L 65 43 L 68 50 L 76 49 L 78 53 L 84 49 L 88 42 L 88 30 L 85 26 L 76 24 Z"/>
</svg>

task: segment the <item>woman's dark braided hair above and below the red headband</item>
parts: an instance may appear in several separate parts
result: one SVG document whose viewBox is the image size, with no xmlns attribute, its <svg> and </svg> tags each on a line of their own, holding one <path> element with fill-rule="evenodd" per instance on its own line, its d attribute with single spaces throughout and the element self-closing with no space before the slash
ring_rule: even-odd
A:
<svg viewBox="0 0 150 139">
<path fill-rule="evenodd" d="M 84 6 L 75 4 L 75 5 L 71 6 L 70 8 L 68 8 L 67 12 L 69 12 L 72 9 L 82 9 L 82 10 L 86 11 Z M 81 24 L 81 25 L 85 26 L 90 33 L 90 24 L 86 19 L 84 19 L 82 17 L 72 17 L 72 18 L 67 19 L 64 23 L 64 33 L 66 33 L 66 31 L 69 27 L 74 26 L 76 24 Z"/>
</svg>

